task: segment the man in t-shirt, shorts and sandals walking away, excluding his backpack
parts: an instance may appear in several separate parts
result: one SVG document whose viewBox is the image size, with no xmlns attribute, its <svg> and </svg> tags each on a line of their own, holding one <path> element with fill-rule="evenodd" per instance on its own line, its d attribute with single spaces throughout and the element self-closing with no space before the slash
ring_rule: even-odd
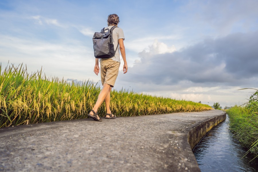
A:
<svg viewBox="0 0 258 172">
<path fill-rule="evenodd" d="M 113 26 L 118 26 L 119 22 L 120 20 L 118 15 L 110 14 L 107 17 L 107 27 L 105 29 L 111 29 Z M 119 49 L 117 48 L 115 56 L 100 60 L 100 74 L 101 74 L 101 83 L 103 85 L 103 88 L 99 93 L 96 104 L 88 114 L 90 118 L 93 118 L 96 121 L 102 121 L 102 119 L 98 116 L 97 110 L 104 100 L 105 100 L 106 112 L 107 112 L 105 114 L 105 118 L 107 119 L 116 118 L 116 115 L 112 114 L 110 110 L 110 91 L 112 87 L 114 87 L 115 85 L 116 78 L 118 75 L 118 69 L 120 66 L 119 50 L 124 60 L 123 71 L 124 73 L 127 72 L 127 62 L 126 62 L 126 54 L 125 54 L 125 48 L 124 48 L 123 30 L 118 27 L 114 28 L 112 32 L 112 37 L 113 37 L 114 47 L 117 47 L 119 45 Z M 96 75 L 98 75 L 99 73 L 99 60 L 97 58 L 95 59 L 94 73 Z"/>
</svg>

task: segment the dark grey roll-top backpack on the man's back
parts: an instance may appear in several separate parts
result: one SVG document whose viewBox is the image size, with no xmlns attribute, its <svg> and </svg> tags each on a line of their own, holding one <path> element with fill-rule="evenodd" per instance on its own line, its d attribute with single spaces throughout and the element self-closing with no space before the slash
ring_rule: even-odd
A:
<svg viewBox="0 0 258 172">
<path fill-rule="evenodd" d="M 117 26 L 113 26 L 111 29 L 103 28 L 101 32 L 95 32 L 93 35 L 93 49 L 95 58 L 110 58 L 115 56 L 116 50 L 114 50 L 112 32 L 114 28 Z M 105 30 L 108 30 L 105 32 Z"/>
</svg>

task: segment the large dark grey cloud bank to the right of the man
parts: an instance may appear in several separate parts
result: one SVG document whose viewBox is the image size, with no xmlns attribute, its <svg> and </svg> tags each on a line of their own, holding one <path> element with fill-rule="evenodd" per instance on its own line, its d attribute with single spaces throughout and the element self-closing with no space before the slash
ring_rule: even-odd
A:
<svg viewBox="0 0 258 172">
<path fill-rule="evenodd" d="M 258 32 L 236 33 L 206 39 L 179 51 L 139 53 L 140 61 L 129 68 L 121 80 L 141 84 L 198 86 L 240 86 L 257 83 Z M 120 77 L 119 77 L 120 78 Z"/>
</svg>

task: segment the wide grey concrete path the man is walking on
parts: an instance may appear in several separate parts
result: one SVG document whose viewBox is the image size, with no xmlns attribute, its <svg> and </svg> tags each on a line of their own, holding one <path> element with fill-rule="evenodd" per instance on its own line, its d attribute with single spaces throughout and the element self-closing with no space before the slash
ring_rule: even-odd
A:
<svg viewBox="0 0 258 172">
<path fill-rule="evenodd" d="M 0 128 L 0 171 L 200 171 L 188 132 L 221 110 Z"/>
</svg>

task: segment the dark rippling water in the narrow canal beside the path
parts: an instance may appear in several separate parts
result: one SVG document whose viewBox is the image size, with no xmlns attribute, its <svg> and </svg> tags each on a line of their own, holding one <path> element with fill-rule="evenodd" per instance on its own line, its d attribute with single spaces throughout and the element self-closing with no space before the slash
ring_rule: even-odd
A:
<svg viewBox="0 0 258 172">
<path fill-rule="evenodd" d="M 227 115 L 226 120 L 212 129 L 193 149 L 201 171 L 257 172 L 258 158 L 251 161 L 254 157 L 249 154 L 241 159 L 247 149 L 233 138 L 228 123 Z"/>
</svg>

